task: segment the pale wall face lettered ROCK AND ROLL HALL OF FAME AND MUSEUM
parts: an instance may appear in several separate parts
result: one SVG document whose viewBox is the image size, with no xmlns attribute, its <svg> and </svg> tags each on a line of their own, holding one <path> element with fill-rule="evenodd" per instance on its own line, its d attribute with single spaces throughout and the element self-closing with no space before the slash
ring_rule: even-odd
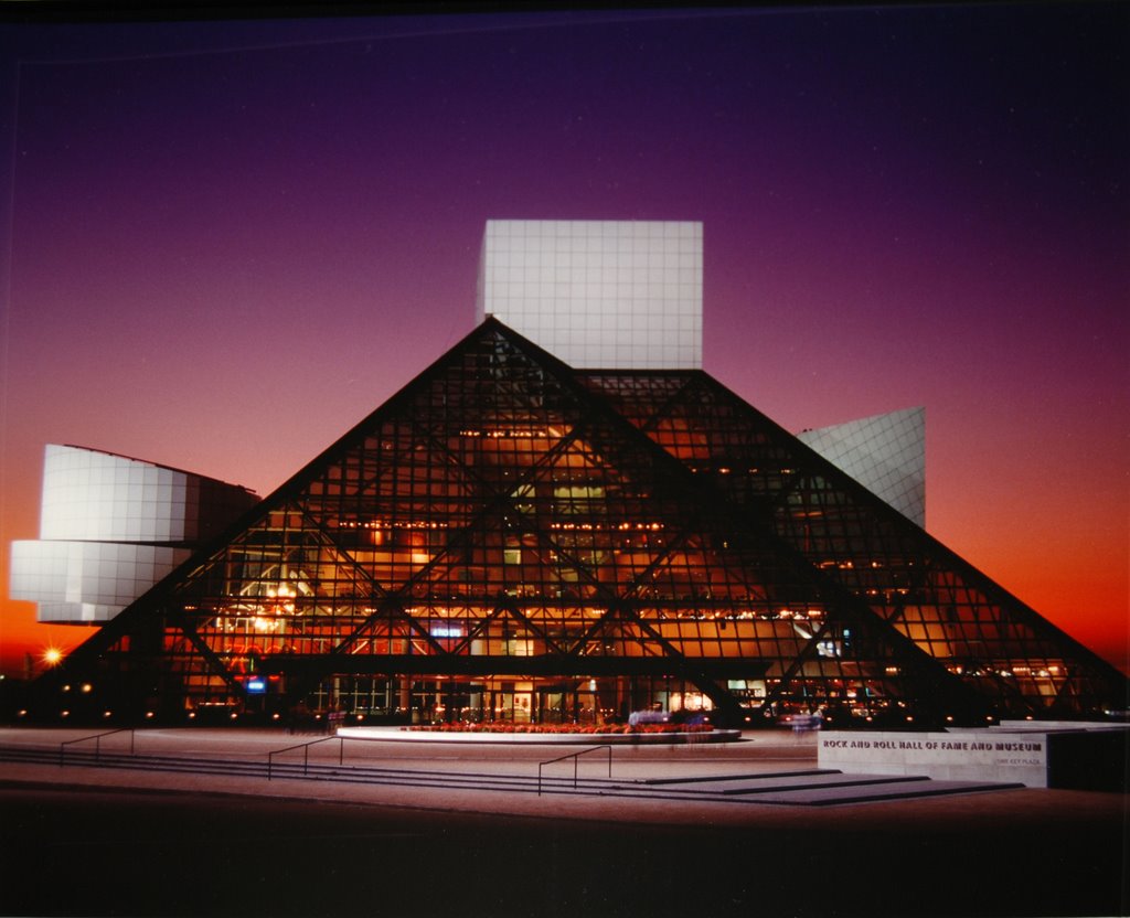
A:
<svg viewBox="0 0 1130 918">
<path fill-rule="evenodd" d="M 1048 787 L 1048 735 L 1028 731 L 820 734 L 820 768 L 863 774 L 922 774 L 950 781 Z"/>
</svg>

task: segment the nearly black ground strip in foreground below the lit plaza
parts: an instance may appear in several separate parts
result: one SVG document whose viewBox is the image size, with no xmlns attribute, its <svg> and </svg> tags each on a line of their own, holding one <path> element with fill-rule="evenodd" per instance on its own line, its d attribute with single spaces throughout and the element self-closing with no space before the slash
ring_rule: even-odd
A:
<svg viewBox="0 0 1130 918">
<path fill-rule="evenodd" d="M 999 797 L 933 800 L 921 820 L 901 819 L 897 808 L 875 819 L 841 807 L 840 815 L 773 811 L 773 819 L 746 825 L 662 825 L 0 785 L 0 911 L 1127 913 L 1124 798 L 1057 791 L 1054 806 L 1025 805 L 1000 819 L 990 799 Z"/>
</svg>

